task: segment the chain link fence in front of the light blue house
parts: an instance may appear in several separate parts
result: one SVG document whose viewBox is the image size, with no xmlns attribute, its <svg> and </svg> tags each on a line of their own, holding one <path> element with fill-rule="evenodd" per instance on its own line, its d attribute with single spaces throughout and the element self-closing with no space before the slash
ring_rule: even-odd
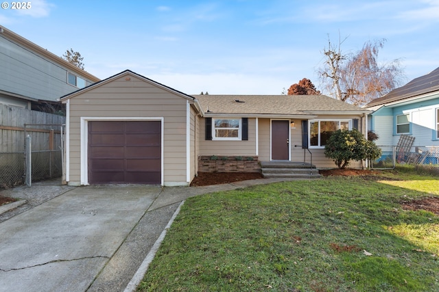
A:
<svg viewBox="0 0 439 292">
<path fill-rule="evenodd" d="M 373 169 L 393 169 L 396 165 L 430 165 L 439 168 L 439 146 L 379 146 L 382 155 L 370 164 Z"/>
</svg>

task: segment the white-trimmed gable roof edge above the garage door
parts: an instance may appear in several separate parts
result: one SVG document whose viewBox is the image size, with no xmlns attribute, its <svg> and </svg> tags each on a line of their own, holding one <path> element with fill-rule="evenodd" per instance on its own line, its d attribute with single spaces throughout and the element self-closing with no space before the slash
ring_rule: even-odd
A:
<svg viewBox="0 0 439 292">
<path fill-rule="evenodd" d="M 74 98 L 75 96 L 78 96 L 79 94 L 82 94 L 84 92 L 88 92 L 89 90 L 93 90 L 94 88 L 98 88 L 99 86 L 108 84 L 108 83 L 110 83 L 112 81 L 115 81 L 117 79 L 121 79 L 123 77 L 125 77 L 126 80 L 129 80 L 127 78 L 134 77 L 134 78 L 140 79 L 142 81 L 145 81 L 147 83 L 150 83 L 150 84 L 152 84 L 154 86 L 157 86 L 158 88 L 161 88 L 163 90 L 166 90 L 166 91 L 171 92 L 173 94 L 176 94 L 178 96 L 186 98 L 189 101 L 195 101 L 195 98 L 193 98 L 193 96 L 189 96 L 189 95 L 187 95 L 187 94 L 185 94 L 183 92 L 180 92 L 178 90 L 174 90 L 174 88 L 170 88 L 169 86 L 166 86 L 166 85 L 163 85 L 161 83 L 158 83 L 158 82 L 156 82 L 156 81 L 154 81 L 152 79 L 149 79 L 147 77 L 139 75 L 136 72 L 132 72 L 131 70 L 122 71 L 122 72 L 120 72 L 120 73 L 118 73 L 116 75 L 112 75 L 112 76 L 108 77 L 107 79 L 103 79 L 101 81 L 98 81 L 96 83 L 88 85 L 85 88 L 82 88 L 80 90 L 76 90 L 75 92 L 71 92 L 71 93 L 66 94 L 64 96 L 61 96 L 60 100 L 61 101 L 67 101 L 67 99 L 69 99 L 69 98 Z"/>
</svg>

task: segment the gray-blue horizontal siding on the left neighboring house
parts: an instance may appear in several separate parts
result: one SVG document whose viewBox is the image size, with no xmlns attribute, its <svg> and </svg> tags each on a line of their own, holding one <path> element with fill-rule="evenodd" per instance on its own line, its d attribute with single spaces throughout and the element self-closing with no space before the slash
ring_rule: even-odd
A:
<svg viewBox="0 0 439 292">
<path fill-rule="evenodd" d="M 1 90 L 50 101 L 78 90 L 67 83 L 66 68 L 1 35 L 0 64 Z"/>
</svg>

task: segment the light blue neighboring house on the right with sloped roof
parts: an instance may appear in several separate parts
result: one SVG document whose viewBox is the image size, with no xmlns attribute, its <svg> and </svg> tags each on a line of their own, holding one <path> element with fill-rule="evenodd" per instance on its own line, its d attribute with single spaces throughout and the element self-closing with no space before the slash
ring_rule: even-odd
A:
<svg viewBox="0 0 439 292">
<path fill-rule="evenodd" d="M 368 105 L 369 128 L 378 146 L 396 146 L 401 135 L 414 137 L 413 146 L 439 146 L 439 68 L 413 79 Z"/>
</svg>

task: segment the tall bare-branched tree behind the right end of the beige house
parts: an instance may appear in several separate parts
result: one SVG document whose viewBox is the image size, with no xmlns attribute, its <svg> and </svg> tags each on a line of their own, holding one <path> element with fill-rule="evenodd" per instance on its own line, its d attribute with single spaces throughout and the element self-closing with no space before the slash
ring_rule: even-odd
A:
<svg viewBox="0 0 439 292">
<path fill-rule="evenodd" d="M 400 60 L 378 62 L 379 49 L 385 41 L 366 42 L 357 53 L 346 55 L 340 49 L 342 42 L 334 47 L 329 41 L 329 48 L 324 49 L 326 62 L 319 72 L 330 94 L 340 101 L 361 106 L 396 88 L 403 81 Z"/>
</svg>

